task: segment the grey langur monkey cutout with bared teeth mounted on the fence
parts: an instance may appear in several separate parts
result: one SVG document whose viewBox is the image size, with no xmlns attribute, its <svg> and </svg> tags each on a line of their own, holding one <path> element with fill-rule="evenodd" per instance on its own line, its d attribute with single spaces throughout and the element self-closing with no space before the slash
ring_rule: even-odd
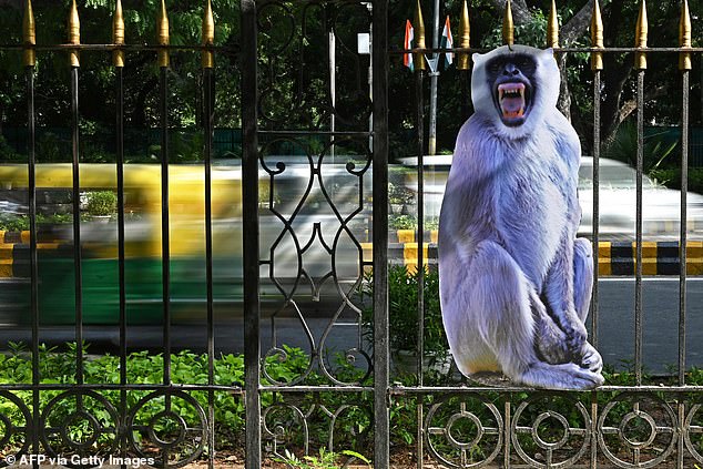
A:
<svg viewBox="0 0 703 469">
<path fill-rule="evenodd" d="M 581 146 L 557 110 L 551 50 L 473 54 L 475 114 L 457 136 L 439 218 L 445 330 L 459 370 L 551 389 L 603 384 L 587 341 L 591 243 L 577 239 Z"/>
</svg>

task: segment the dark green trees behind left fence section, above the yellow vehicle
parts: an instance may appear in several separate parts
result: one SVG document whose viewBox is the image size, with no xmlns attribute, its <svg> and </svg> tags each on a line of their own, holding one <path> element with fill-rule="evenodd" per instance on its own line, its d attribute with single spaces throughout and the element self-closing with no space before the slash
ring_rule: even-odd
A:
<svg viewBox="0 0 703 469">
<path fill-rule="evenodd" d="M 123 0 L 128 44 L 154 44 L 160 1 Z M 202 1 L 169 2 L 171 44 L 200 44 L 204 4 Z M 216 44 L 238 40 L 238 2 L 216 1 Z M 70 0 L 32 2 L 38 44 L 67 41 L 67 19 Z M 0 26 L 9 31 L 8 43 L 21 43 L 23 1 L 0 4 Z M 111 43 L 114 0 L 79 2 L 82 43 Z M 0 50 L 0 122 L 21 125 L 27 122 L 21 53 Z M 7 58 L 7 59 L 6 59 Z M 236 59 L 223 53 L 217 58 L 215 80 L 218 99 L 215 120 L 220 125 L 238 126 Z M 202 78 L 200 52 L 171 53 L 170 115 L 173 126 L 189 128 L 201 120 Z M 69 67 L 63 51 L 38 51 L 35 68 L 35 109 L 38 128 L 64 128 L 70 116 Z M 159 71 L 155 52 L 128 52 L 124 68 L 125 124 L 128 128 L 150 128 L 159 123 Z M 79 106 L 82 136 L 108 132 L 114 121 L 114 79 L 110 54 L 99 51 L 81 53 Z M 230 103 L 225 105 L 224 103 Z"/>
</svg>

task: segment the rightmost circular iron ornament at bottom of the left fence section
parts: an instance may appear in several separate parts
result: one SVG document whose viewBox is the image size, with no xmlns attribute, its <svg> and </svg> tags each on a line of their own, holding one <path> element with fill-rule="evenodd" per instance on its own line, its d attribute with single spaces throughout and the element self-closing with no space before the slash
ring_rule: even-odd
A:
<svg viewBox="0 0 703 469">
<path fill-rule="evenodd" d="M 200 457 L 207 443 L 205 410 L 180 390 L 156 390 L 142 398 L 126 421 L 130 447 L 152 466 L 180 468 Z M 139 434 L 142 438 L 135 438 Z M 149 443 L 149 450 L 144 443 Z M 153 449 L 155 447 L 155 449 Z"/>
</svg>

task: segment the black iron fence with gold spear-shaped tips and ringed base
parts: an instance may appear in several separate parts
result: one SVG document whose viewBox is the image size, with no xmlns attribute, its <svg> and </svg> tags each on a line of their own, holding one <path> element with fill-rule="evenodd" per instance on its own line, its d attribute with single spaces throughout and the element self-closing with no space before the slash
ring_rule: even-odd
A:
<svg viewBox="0 0 703 469">
<path fill-rule="evenodd" d="M 342 463 L 368 458 L 379 468 L 391 463 L 591 468 L 703 465 L 703 384 L 700 370 L 691 370 L 686 363 L 686 351 L 700 346 L 686 343 L 686 324 L 692 316 L 700 316 L 699 305 L 687 300 L 686 170 L 691 55 L 703 50 L 691 47 L 685 11 L 680 47 L 646 49 L 646 34 L 641 34 L 646 22 L 641 19 L 634 48 L 607 49 L 598 9 L 593 10 L 590 48 L 559 48 L 556 39 L 551 40 L 550 45 L 560 54 L 590 53 L 592 60 L 592 181 L 597 188 L 602 59 L 605 54 L 636 55 L 639 184 L 634 309 L 624 316 L 634 324 L 632 374 L 609 375 L 605 386 L 590 392 L 548 392 L 473 386 L 439 366 L 440 360 L 425 363 L 427 357 L 437 358 L 435 351 L 427 353 L 430 343 L 437 341 L 432 326 L 439 320 L 437 312 L 432 316 L 431 310 L 431 304 L 437 303 L 431 272 L 420 268 L 415 276 L 408 275 L 414 281 L 400 281 L 415 292 L 401 295 L 406 304 L 400 308 L 407 307 L 407 315 L 390 314 L 394 308 L 398 310 L 399 300 L 391 292 L 398 273 L 388 266 L 388 114 L 394 105 L 389 102 L 389 68 L 399 61 L 403 51 L 389 48 L 388 2 L 244 0 L 238 43 L 214 45 L 214 20 L 207 1 L 202 45 L 176 47 L 169 45 L 164 2 L 157 20 L 157 43 L 132 45 L 124 37 L 119 1 L 109 44 L 81 42 L 75 2 L 70 11 L 69 42 L 35 43 L 33 12 L 27 1 L 24 43 L 2 47 L 23 51 L 27 161 L 3 166 L 20 174 L 12 173 L 17 179 L 10 180 L 10 173 L 6 173 L 8 182 L 12 181 L 8 183 L 10 188 L 28 193 L 30 266 L 29 282 L 23 283 L 22 290 L 29 298 L 24 310 L 29 346 L 6 358 L 16 360 L 12 364 L 18 369 L 21 364 L 28 365 L 29 374 L 0 387 L 3 463 L 94 467 L 136 461 L 182 467 L 204 459 L 211 467 L 243 462 L 247 468 L 258 468 L 276 460 L 295 466 L 295 455 L 319 456 L 317 449 L 322 447 L 339 455 Z M 454 51 L 460 54 L 461 80 L 468 83 L 467 53 L 471 49 L 466 21 L 461 23 L 466 33 Z M 420 22 L 416 19 L 416 24 Z M 509 16 L 505 24 L 505 40 L 510 42 Z M 554 26 L 549 32 L 550 38 L 558 38 Z M 358 33 L 370 33 L 369 50 L 357 48 Z M 416 34 L 420 49 L 412 52 L 419 64 L 424 63 L 422 53 L 440 49 L 422 49 L 419 38 L 424 32 L 417 28 Z M 323 50 L 327 55 L 310 55 L 310 41 L 326 42 Z M 80 153 L 80 54 L 90 51 L 110 54 L 113 60 L 116 161 L 112 166 L 114 177 L 104 180 L 94 174 L 104 165 L 85 164 Z M 131 54 L 145 51 L 157 61 L 161 141 L 156 176 L 152 170 L 125 163 L 123 72 L 130 67 Z M 51 169 L 54 173 L 37 164 L 41 155 L 37 154 L 35 141 L 34 84 L 42 79 L 37 74 L 35 60 L 49 52 L 65 53 L 71 70 L 72 159 L 70 165 Z M 202 55 L 198 80 L 204 163 L 190 166 L 184 175 L 169 157 L 173 143 L 169 122 L 170 57 L 194 53 Z M 220 54 L 238 59 L 241 102 L 227 104 L 241 108 L 242 162 L 228 169 L 232 179 L 220 179 L 212 165 L 213 77 Z M 642 298 L 646 288 L 642 165 L 645 59 L 654 54 L 681 58 L 681 75 L 671 80 L 681 80 L 682 180 L 675 283 L 679 315 L 671 319 L 677 322 L 677 364 L 672 376 L 651 378 L 645 374 L 642 353 Z M 344 77 L 337 77 L 338 68 L 344 69 Z M 426 72 L 417 65 L 415 80 L 415 242 L 424 246 L 430 242 L 424 230 Z M 292 154 L 298 156 L 282 156 L 282 147 L 296 149 Z M 146 177 L 140 180 L 139 171 L 144 171 Z M 70 177 L 60 176 L 62 172 Z M 297 175 L 295 184 L 287 179 L 291 173 Z M 63 261 L 70 265 L 62 264 L 65 268 L 61 271 L 51 271 L 55 264 L 42 261 L 44 248 L 39 242 L 37 194 L 51 184 L 47 181 L 52 174 L 71 182 L 62 185 L 70 190 L 72 217 L 63 239 L 70 246 Z M 84 212 L 84 192 L 101 187 L 116 194 L 114 221 L 108 231 L 96 230 L 98 222 L 80 215 Z M 150 188 L 139 192 L 134 187 Z M 143 212 L 132 217 L 140 207 Z M 594 246 L 600 241 L 600 208 L 597 190 L 592 207 Z M 193 216 L 180 218 L 184 211 Z M 184 226 L 192 230 L 194 224 L 200 234 L 191 235 L 183 244 Z M 135 242 L 139 230 L 142 237 Z M 594 254 L 598 267 L 598 248 Z M 105 259 L 112 261 L 111 274 L 95 267 Z M 426 262 L 426 251 L 416 248 L 415 264 Z M 61 275 L 48 277 L 45 272 Z M 85 295 L 93 285 L 110 282 L 114 282 L 113 320 L 103 324 L 101 330 L 112 328 L 119 354 L 112 373 L 106 368 L 95 371 L 102 361 L 82 346 L 88 334 L 94 333 L 88 324 L 96 308 Z M 197 294 L 181 296 L 189 282 L 198 283 Z M 58 330 L 47 327 L 48 320 L 40 314 L 40 303 L 52 300 L 45 295 L 52 284 L 63 293 L 70 288 L 70 338 L 78 344 L 69 350 L 71 361 L 64 364 L 60 379 L 53 378 L 49 369 L 59 354 L 42 346 Z M 217 288 L 233 284 L 241 284 L 240 296 L 223 299 Z M 597 275 L 590 319 L 595 345 L 602 324 L 600 284 Z M 11 282 L 0 285 L 13 287 Z M 146 294 L 137 292 L 149 285 L 156 288 Z M 204 312 L 196 325 L 187 320 L 192 319 L 192 304 Z M 137 367 L 130 349 L 142 333 L 137 322 L 147 306 L 157 309 L 152 322 L 156 328 L 150 329 L 147 348 L 160 354 L 147 358 L 147 366 Z M 183 343 L 179 335 L 186 334 L 184 329 L 201 330 L 203 355 L 193 358 L 175 351 L 174 345 Z M 391 350 L 403 334 L 415 349 L 409 371 L 398 371 L 401 358 Z M 221 351 L 235 343 L 241 344 L 243 355 Z M 184 360 L 197 363 L 198 373 L 185 373 L 191 368 Z"/>
</svg>

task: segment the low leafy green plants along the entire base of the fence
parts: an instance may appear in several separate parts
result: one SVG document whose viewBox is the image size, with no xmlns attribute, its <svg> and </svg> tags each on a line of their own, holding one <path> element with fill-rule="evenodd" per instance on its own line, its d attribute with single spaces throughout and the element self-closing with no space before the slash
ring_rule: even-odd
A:
<svg viewBox="0 0 703 469">
<path fill-rule="evenodd" d="M 83 379 L 85 384 L 119 384 L 121 377 L 120 357 L 113 355 L 89 355 L 85 349 L 86 358 L 83 361 Z M 279 360 L 277 357 L 267 358 L 267 367 L 269 373 L 276 376 L 276 379 L 292 380 L 299 376 L 307 368 L 309 357 L 300 349 L 285 347 L 288 359 Z M 64 350 L 42 346 L 39 349 L 39 379 L 44 385 L 72 385 L 75 384 L 77 373 L 77 346 L 69 344 Z M 244 401 L 237 388 L 242 386 L 244 380 L 244 358 L 237 354 L 223 354 L 214 358 L 213 363 L 213 381 L 217 385 L 233 386 L 233 391 L 215 391 L 192 390 L 184 392 L 183 396 L 176 394 L 172 401 L 172 408 L 190 428 L 197 428 L 202 424 L 201 410 L 208 409 L 208 401 L 212 404 L 215 431 L 215 448 L 220 453 L 235 455 L 236 458 L 244 458 L 244 419 L 245 409 Z M 340 365 L 344 366 L 344 365 Z M 350 375 L 361 371 L 355 370 L 348 365 L 347 370 Z M 172 356 L 171 361 L 172 379 L 174 384 L 192 384 L 206 385 L 208 383 L 208 357 L 204 354 L 194 354 L 187 350 L 179 351 Z M 605 373 L 607 384 L 609 385 L 633 385 L 634 374 L 614 373 L 612 369 Z M 163 379 L 163 356 L 151 355 L 145 351 L 132 353 L 126 357 L 126 381 L 131 385 L 159 385 Z M 313 371 L 310 379 L 313 383 L 325 384 L 322 374 Z M 428 377 L 429 381 L 425 385 L 435 386 L 449 384 L 450 377 Z M 442 381 L 444 379 L 444 381 Z M 415 386 L 417 377 L 414 375 L 396 377 L 395 386 Z M 651 385 L 673 385 L 673 377 L 644 377 L 644 384 Z M 12 344 L 12 349 L 8 354 L 0 355 L 0 383 L 4 385 L 27 385 L 32 383 L 32 360 L 31 354 L 27 346 L 21 344 Z M 690 385 L 703 384 L 703 370 L 691 369 L 686 375 L 686 383 Z M 266 384 L 266 383 L 264 383 Z M 370 385 L 370 379 L 364 385 Z M 466 384 L 470 386 L 469 383 Z M 62 390 L 47 389 L 40 392 L 40 408 L 47 416 L 47 426 L 51 428 L 60 428 L 65 419 L 71 419 L 79 406 L 79 399 L 75 395 L 62 395 Z M 134 421 L 132 424 L 133 435 L 131 438 L 137 445 L 147 448 L 147 451 L 155 451 L 150 445 L 151 434 L 147 428 L 151 426 L 153 435 L 163 440 L 171 440 L 177 435 L 177 421 L 167 417 L 159 417 L 163 410 L 163 397 L 144 400 L 151 390 L 128 390 L 125 392 L 126 409 L 133 410 Z M 11 392 L 21 401 L 29 406 L 31 411 L 32 391 L 16 390 Z M 63 396 L 61 398 L 61 396 Z M 102 398 L 100 397 L 102 396 Z M 114 416 L 114 409 L 119 408 L 121 391 L 115 389 L 102 390 L 98 395 L 84 395 L 80 400 L 80 406 L 92 415 L 100 425 L 111 428 Z M 622 396 L 619 391 L 600 391 L 595 395 L 599 409 L 602 409 L 613 399 Z M 578 394 L 549 394 L 541 395 L 534 392 L 517 392 L 507 396 L 500 392 L 481 392 L 480 395 L 447 395 L 447 394 L 428 394 L 418 395 L 396 395 L 389 401 L 389 410 L 391 417 L 390 443 L 394 455 L 408 455 L 414 452 L 414 445 L 418 435 L 417 416 L 418 405 L 421 404 L 424 415 L 430 419 L 434 428 L 442 428 L 447 425 L 451 416 L 458 411 L 468 411 L 479 417 L 485 425 L 491 422 L 491 410 L 493 407 L 499 414 L 502 414 L 507 397 L 512 402 L 512 412 L 517 412 L 522 402 L 531 405 L 520 410 L 521 416 L 519 422 L 529 425 L 548 408 L 550 411 L 562 415 L 573 428 L 583 428 L 583 418 L 580 408 L 589 409 L 593 396 L 590 392 Z M 59 400 L 57 400 L 59 399 Z M 652 409 L 651 412 L 655 417 L 665 417 L 655 410 L 661 402 L 669 406 L 675 405 L 675 396 L 666 392 L 659 392 L 656 399 L 641 402 L 643 409 Z M 105 405 L 110 402 L 110 405 Z M 194 405 L 197 402 L 197 405 Z M 620 422 L 622 418 L 632 411 L 632 401 L 624 399 L 619 401 L 611 410 L 609 421 Z M 272 460 L 276 458 L 289 458 L 291 461 L 297 460 L 299 467 L 335 467 L 334 459 L 343 457 L 346 460 L 354 453 L 360 455 L 363 458 L 370 458 L 370 449 L 373 447 L 373 418 L 370 409 L 373 409 L 373 395 L 370 392 L 360 392 L 345 395 L 343 392 L 302 392 L 302 394 L 282 394 L 282 392 L 262 392 L 262 405 L 264 409 L 265 428 L 273 429 L 271 435 L 264 431 L 264 439 L 267 440 L 267 450 L 271 451 Z M 112 406 L 112 409 L 110 408 Z M 675 407 L 673 407 L 675 408 Z M 49 409 L 49 410 L 48 410 Z M 302 416 L 295 410 L 300 409 L 306 414 L 305 422 Z M 329 412 L 337 412 L 338 418 L 330 420 Z M 0 412 L 8 419 L 9 425 L 16 428 L 22 428 L 27 422 L 27 415 L 8 399 L 7 395 L 0 397 Z M 702 417 L 697 417 L 701 420 Z M 701 421 L 694 422 L 701 425 Z M 6 431 L 8 424 L 6 424 Z M 308 456 L 306 459 L 303 451 L 305 448 L 303 426 L 307 427 L 307 434 L 310 436 L 308 446 Z M 644 421 L 633 421 L 629 428 L 628 437 L 632 440 L 641 440 L 646 438 L 649 427 Z M 277 429 L 283 429 L 278 431 Z M 452 437 L 460 440 L 471 440 L 476 435 L 476 427 L 470 419 L 462 419 L 452 426 Z M 547 441 L 559 440 L 562 429 L 556 421 L 544 421 L 539 427 L 540 437 Z M 114 450 L 116 437 L 114 431 L 102 431 L 95 435 L 94 428 L 85 419 L 73 419 L 67 425 L 67 435 L 72 441 L 94 441 L 89 446 L 91 453 L 109 455 Z M 94 438 L 95 437 L 95 438 Z M 440 438 L 441 435 L 434 432 L 430 435 L 431 446 L 435 451 L 442 455 L 449 460 L 460 457 L 459 451 L 449 445 L 446 439 Z M 492 439 L 491 439 L 492 438 Z M 477 461 L 485 459 L 491 451 L 491 445 L 495 446 L 497 437 L 486 436 L 478 445 L 471 448 L 470 459 Z M 334 441 L 335 453 L 320 452 L 320 448 L 327 448 L 329 440 Z M 531 436 L 527 432 L 519 434 L 518 439 L 521 447 L 528 455 L 539 453 L 540 450 Z M 617 436 L 608 435 L 609 447 L 614 451 L 624 451 L 626 448 L 619 442 Z M 563 449 L 563 453 L 573 453 L 581 445 L 579 438 L 570 439 Z M 50 434 L 48 443 L 61 453 L 70 451 L 65 440 L 59 431 Z M 18 451 L 23 439 L 21 435 L 16 435 L 8 439 L 1 449 L 3 453 L 12 453 Z M 699 450 L 703 450 L 703 438 L 694 436 L 694 445 Z M 151 449 L 150 449 L 151 448 Z M 194 451 L 193 447 L 177 448 L 172 457 L 183 457 L 189 451 Z M 207 455 L 208 448 L 203 448 L 202 455 Z M 224 452 L 223 452 L 224 451 Z M 288 451 L 288 452 L 286 452 Z M 347 458 L 344 458 L 346 451 Z M 151 452 L 146 452 L 150 455 Z M 154 452 L 155 455 L 156 452 Z M 278 456 L 276 456 L 278 455 Z M 364 460 L 361 458 L 357 458 Z M 327 466 L 320 466 L 323 465 Z M 318 465 L 318 466 L 315 466 Z M 296 467 L 296 466 L 294 466 Z"/>
</svg>

